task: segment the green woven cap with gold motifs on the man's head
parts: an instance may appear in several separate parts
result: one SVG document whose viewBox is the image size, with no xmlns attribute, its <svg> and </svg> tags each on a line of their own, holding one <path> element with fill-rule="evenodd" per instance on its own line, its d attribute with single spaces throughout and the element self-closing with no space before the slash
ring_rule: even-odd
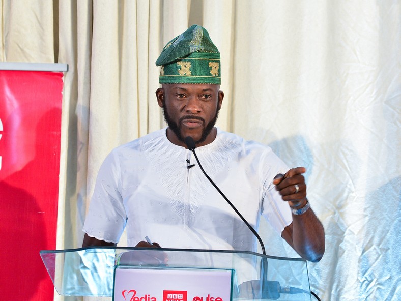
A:
<svg viewBox="0 0 401 301">
<path fill-rule="evenodd" d="M 205 28 L 192 25 L 164 46 L 159 83 L 220 84 L 220 53 Z"/>
</svg>

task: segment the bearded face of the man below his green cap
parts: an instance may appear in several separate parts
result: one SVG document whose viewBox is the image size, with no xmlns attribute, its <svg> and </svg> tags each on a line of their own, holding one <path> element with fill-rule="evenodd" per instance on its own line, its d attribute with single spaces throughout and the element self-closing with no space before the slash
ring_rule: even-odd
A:
<svg viewBox="0 0 401 301">
<path fill-rule="evenodd" d="M 186 146 L 192 137 L 197 146 L 211 143 L 216 137 L 214 125 L 224 94 L 213 84 L 165 84 L 157 89 L 158 104 L 167 122 L 167 138 Z"/>
</svg>

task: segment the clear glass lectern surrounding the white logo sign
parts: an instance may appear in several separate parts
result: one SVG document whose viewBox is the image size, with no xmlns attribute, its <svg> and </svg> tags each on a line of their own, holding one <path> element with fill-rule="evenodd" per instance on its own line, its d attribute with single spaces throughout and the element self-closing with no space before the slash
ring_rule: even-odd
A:
<svg viewBox="0 0 401 301">
<path fill-rule="evenodd" d="M 102 296 L 117 301 L 113 288 L 118 269 L 146 269 L 156 274 L 226 270 L 232 275 L 231 300 L 311 300 L 307 264 L 298 258 L 244 251 L 123 247 L 46 250 L 40 256 L 56 291 L 65 296 Z M 188 295 L 188 301 L 193 300 Z"/>
</svg>

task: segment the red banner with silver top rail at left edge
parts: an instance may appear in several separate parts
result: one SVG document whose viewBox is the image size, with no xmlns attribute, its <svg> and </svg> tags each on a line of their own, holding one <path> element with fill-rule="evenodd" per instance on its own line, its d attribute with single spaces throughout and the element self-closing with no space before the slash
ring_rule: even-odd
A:
<svg viewBox="0 0 401 301">
<path fill-rule="evenodd" d="M 63 73 L 0 70 L 0 294 L 53 300 Z"/>
</svg>

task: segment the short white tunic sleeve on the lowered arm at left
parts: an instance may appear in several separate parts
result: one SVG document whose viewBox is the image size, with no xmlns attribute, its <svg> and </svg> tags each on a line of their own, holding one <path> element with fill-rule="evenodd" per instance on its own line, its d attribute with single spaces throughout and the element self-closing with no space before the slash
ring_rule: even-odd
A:
<svg viewBox="0 0 401 301">
<path fill-rule="evenodd" d="M 111 152 L 102 163 L 89 205 L 83 231 L 91 237 L 118 243 L 127 215 L 121 196 L 121 172 L 118 156 Z"/>
</svg>

